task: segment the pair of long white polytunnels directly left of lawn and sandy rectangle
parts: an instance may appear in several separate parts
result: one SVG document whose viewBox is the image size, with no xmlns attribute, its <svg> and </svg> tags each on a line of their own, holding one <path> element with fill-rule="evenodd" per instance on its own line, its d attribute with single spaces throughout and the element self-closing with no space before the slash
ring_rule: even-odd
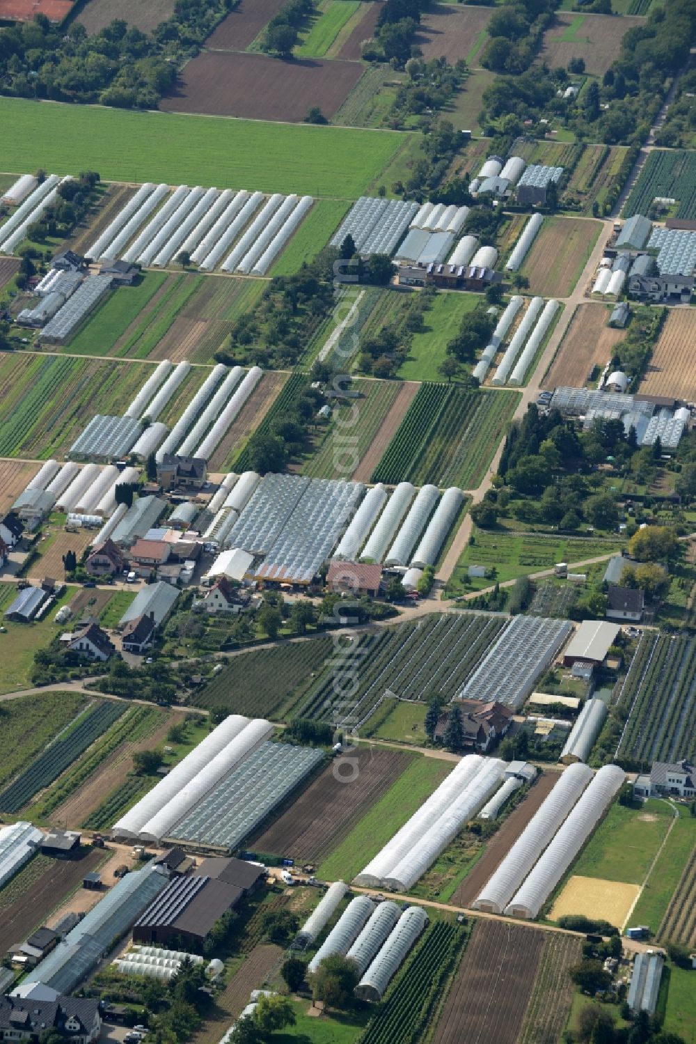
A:
<svg viewBox="0 0 696 1044">
<path fill-rule="evenodd" d="M 476 897 L 474 908 L 534 919 L 622 786 L 618 765 L 570 765 Z"/>
</svg>

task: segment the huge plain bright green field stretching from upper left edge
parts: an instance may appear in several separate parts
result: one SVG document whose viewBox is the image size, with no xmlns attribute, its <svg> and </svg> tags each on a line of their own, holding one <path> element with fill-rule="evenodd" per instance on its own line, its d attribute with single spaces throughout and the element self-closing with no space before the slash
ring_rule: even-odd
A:
<svg viewBox="0 0 696 1044">
<path fill-rule="evenodd" d="M 109 181 L 179 182 L 357 198 L 405 136 L 0 99 L 3 166 Z"/>
</svg>

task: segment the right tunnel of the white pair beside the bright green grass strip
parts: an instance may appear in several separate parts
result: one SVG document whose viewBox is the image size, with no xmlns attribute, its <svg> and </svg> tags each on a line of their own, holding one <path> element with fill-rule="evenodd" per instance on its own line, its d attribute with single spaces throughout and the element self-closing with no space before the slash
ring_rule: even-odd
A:
<svg viewBox="0 0 696 1044">
<path fill-rule="evenodd" d="M 408 892 L 497 789 L 506 767 L 500 758 L 485 758 L 425 833 L 413 836 L 408 852 L 385 875 L 384 884 L 393 892 Z"/>
</svg>

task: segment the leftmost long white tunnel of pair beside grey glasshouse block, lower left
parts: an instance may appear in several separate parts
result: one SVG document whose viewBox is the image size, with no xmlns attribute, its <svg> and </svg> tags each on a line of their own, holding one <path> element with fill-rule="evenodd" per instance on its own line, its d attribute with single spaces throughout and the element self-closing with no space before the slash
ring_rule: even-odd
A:
<svg viewBox="0 0 696 1044">
<path fill-rule="evenodd" d="M 241 714 L 231 714 L 221 725 L 213 729 L 155 787 L 114 824 L 112 827 L 114 836 L 137 838 L 148 820 L 174 800 L 183 787 L 239 736 L 250 720 Z"/>
</svg>

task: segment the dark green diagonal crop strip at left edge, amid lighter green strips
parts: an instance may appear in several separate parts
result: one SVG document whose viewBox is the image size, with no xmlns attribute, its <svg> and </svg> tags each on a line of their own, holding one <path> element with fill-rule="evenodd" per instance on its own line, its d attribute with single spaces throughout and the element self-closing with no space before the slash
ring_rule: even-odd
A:
<svg viewBox="0 0 696 1044">
<path fill-rule="evenodd" d="M 97 704 L 63 736 L 35 758 L 27 768 L 0 793 L 3 812 L 19 812 L 33 796 L 57 779 L 98 736 L 123 714 L 125 706 L 113 701 Z"/>
</svg>

